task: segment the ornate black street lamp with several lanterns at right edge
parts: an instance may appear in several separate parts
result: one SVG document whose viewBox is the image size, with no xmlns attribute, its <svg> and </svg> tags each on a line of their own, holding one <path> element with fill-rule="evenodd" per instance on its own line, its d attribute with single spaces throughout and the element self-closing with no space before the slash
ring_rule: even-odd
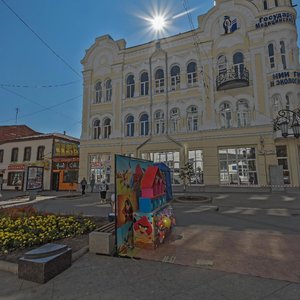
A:
<svg viewBox="0 0 300 300">
<path fill-rule="evenodd" d="M 289 133 L 289 128 L 293 133 Z M 300 137 L 300 109 L 292 111 L 289 109 L 281 109 L 277 118 L 274 120 L 274 130 L 280 130 L 281 135 L 286 138 L 293 135 L 295 138 Z"/>
</svg>

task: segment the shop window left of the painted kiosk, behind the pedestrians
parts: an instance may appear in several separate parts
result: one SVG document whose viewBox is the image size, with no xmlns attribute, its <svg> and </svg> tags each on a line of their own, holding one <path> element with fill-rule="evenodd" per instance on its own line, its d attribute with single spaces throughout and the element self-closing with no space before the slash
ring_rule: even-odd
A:
<svg viewBox="0 0 300 300">
<path fill-rule="evenodd" d="M 95 176 L 95 183 L 99 184 L 103 180 L 110 183 L 111 178 L 111 155 L 110 154 L 90 154 L 89 155 L 90 178 Z"/>
</svg>

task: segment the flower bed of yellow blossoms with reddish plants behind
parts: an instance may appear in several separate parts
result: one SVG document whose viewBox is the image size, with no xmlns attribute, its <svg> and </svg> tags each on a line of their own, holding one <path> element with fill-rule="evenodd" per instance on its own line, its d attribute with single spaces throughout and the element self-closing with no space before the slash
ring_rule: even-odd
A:
<svg viewBox="0 0 300 300">
<path fill-rule="evenodd" d="M 37 213 L 32 207 L 0 210 L 0 255 L 58 239 L 88 233 L 96 228 L 89 218 Z"/>
</svg>

